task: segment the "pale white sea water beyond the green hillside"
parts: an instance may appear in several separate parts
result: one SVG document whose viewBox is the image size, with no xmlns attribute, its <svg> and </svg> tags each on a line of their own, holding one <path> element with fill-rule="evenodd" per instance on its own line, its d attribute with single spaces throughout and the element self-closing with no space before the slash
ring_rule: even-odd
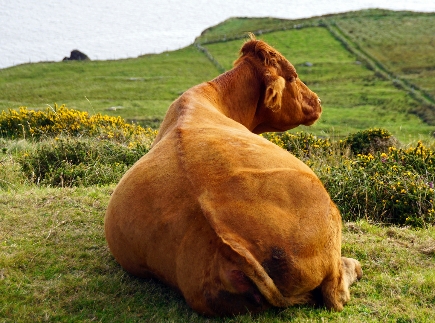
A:
<svg viewBox="0 0 435 323">
<path fill-rule="evenodd" d="M 92 60 L 175 50 L 229 17 L 296 19 L 368 8 L 434 12 L 435 0 L 0 0 L 0 68 L 61 61 L 73 49 Z"/>
</svg>

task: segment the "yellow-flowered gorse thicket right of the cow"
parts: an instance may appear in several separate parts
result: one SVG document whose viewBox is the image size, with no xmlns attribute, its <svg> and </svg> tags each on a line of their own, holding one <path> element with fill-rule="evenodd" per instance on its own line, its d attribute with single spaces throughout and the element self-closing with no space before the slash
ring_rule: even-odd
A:
<svg viewBox="0 0 435 323">
<path fill-rule="evenodd" d="M 313 169 L 344 219 L 435 223 L 435 157 L 421 141 L 415 148 L 397 149 L 397 139 L 383 129 L 359 131 L 335 142 L 303 131 L 262 136 Z"/>
</svg>

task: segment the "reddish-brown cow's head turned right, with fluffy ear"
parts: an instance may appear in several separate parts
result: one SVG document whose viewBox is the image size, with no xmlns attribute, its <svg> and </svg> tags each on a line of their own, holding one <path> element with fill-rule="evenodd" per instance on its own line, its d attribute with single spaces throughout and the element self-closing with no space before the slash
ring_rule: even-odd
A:
<svg viewBox="0 0 435 323">
<path fill-rule="evenodd" d="M 234 65 L 248 58 L 264 84 L 254 133 L 311 125 L 320 117 L 320 99 L 298 78 L 294 66 L 277 50 L 251 34 L 251 40 L 243 45 L 240 56 Z"/>
</svg>

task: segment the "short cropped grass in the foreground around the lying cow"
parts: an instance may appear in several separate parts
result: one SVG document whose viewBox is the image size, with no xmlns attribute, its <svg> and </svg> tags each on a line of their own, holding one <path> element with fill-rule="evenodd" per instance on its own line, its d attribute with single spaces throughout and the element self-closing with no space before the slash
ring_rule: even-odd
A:
<svg viewBox="0 0 435 323">
<path fill-rule="evenodd" d="M 342 255 L 364 276 L 341 313 L 309 306 L 205 318 L 164 284 L 127 273 L 104 238 L 114 185 L 0 191 L 2 322 L 433 322 L 435 232 L 343 225 Z"/>
</svg>

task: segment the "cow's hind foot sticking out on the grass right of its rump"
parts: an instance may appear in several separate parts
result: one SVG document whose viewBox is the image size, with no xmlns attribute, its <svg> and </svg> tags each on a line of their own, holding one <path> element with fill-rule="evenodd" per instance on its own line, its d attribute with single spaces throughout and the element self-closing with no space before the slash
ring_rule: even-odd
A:
<svg viewBox="0 0 435 323">
<path fill-rule="evenodd" d="M 350 299 L 349 286 L 362 277 L 358 260 L 341 257 L 338 274 L 328 276 L 321 283 L 323 303 L 329 310 L 340 312 Z"/>
</svg>

